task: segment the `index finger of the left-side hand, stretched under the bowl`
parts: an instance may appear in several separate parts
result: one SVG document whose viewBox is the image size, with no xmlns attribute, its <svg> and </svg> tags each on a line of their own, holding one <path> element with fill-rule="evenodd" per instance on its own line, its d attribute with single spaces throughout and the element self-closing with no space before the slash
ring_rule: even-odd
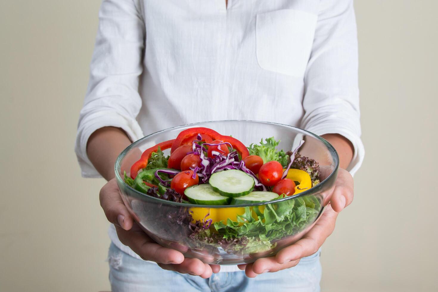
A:
<svg viewBox="0 0 438 292">
<path fill-rule="evenodd" d="M 155 243 L 143 230 L 126 231 L 116 226 L 117 236 L 120 241 L 131 248 L 143 260 L 152 260 L 162 264 L 180 264 L 184 255 L 177 250 L 162 247 Z"/>
</svg>

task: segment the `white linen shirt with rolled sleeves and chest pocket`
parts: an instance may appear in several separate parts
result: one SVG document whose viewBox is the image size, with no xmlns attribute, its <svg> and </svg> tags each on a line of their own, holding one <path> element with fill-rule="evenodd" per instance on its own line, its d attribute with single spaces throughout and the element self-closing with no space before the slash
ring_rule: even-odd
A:
<svg viewBox="0 0 438 292">
<path fill-rule="evenodd" d="M 103 0 L 75 145 L 82 176 L 100 177 L 86 145 L 101 127 L 136 141 L 209 120 L 341 134 L 354 174 L 364 157 L 357 59 L 352 0 Z M 113 226 L 109 235 L 136 256 Z"/>
</svg>

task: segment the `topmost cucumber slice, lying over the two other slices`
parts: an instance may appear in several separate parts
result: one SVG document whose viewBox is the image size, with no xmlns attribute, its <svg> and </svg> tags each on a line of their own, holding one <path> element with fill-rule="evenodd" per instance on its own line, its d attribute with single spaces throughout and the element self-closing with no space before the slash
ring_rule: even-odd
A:
<svg viewBox="0 0 438 292">
<path fill-rule="evenodd" d="M 213 190 L 226 197 L 240 197 L 254 190 L 254 179 L 237 169 L 215 172 L 209 183 Z"/>
</svg>

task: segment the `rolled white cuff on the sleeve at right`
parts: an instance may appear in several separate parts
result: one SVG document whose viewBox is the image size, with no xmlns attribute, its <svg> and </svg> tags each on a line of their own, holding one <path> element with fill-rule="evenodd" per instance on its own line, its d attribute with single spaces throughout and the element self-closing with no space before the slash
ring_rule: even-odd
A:
<svg viewBox="0 0 438 292">
<path fill-rule="evenodd" d="M 364 161 L 365 149 L 362 140 L 360 140 L 360 135 L 356 134 L 353 130 L 348 127 L 341 126 L 342 123 L 325 123 L 324 125 L 314 125 L 307 127 L 306 130 L 317 134 L 318 136 L 324 134 L 339 134 L 343 137 L 346 137 L 354 147 L 353 159 L 350 162 L 350 165 L 347 167 L 347 171 L 350 172 L 352 176 L 357 172 Z"/>
</svg>

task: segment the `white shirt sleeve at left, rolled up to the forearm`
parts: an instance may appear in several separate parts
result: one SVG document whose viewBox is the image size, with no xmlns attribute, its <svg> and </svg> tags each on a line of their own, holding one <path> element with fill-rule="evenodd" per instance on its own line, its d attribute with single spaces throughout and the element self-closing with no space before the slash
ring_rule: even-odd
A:
<svg viewBox="0 0 438 292">
<path fill-rule="evenodd" d="M 103 0 L 75 144 L 84 177 L 101 177 L 86 151 L 95 130 L 113 126 L 122 128 L 131 141 L 143 137 L 136 117 L 141 108 L 138 80 L 144 40 L 145 25 L 137 0 Z"/>
</svg>

